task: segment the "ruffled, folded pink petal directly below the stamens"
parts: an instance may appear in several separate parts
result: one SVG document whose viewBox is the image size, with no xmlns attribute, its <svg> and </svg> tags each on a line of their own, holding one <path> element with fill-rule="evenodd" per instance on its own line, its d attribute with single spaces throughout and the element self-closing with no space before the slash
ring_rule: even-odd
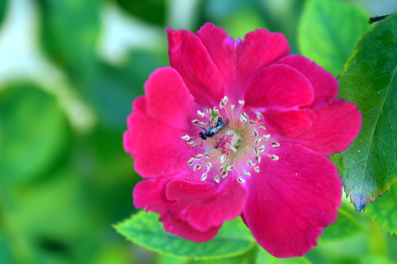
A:
<svg viewBox="0 0 397 264">
<path fill-rule="evenodd" d="M 230 176 L 229 180 L 224 178 L 222 184 L 172 180 L 167 184 L 166 197 L 175 201 L 171 206 L 174 217 L 197 230 L 207 231 L 239 216 L 247 193 Z"/>
</svg>

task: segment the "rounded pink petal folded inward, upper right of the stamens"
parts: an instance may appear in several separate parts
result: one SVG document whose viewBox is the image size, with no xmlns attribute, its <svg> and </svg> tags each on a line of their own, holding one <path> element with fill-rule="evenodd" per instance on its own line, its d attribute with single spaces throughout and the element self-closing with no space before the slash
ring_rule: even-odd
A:
<svg viewBox="0 0 397 264">
<path fill-rule="evenodd" d="M 291 66 L 275 64 L 258 73 L 244 98 L 247 107 L 285 111 L 309 105 L 314 94 L 312 84 L 302 73 Z"/>
</svg>

